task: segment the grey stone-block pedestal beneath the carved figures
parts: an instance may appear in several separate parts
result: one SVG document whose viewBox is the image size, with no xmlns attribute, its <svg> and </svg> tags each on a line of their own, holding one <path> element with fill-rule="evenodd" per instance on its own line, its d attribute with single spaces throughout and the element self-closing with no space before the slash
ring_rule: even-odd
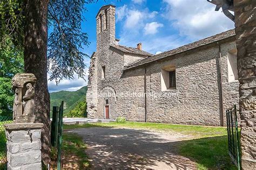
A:
<svg viewBox="0 0 256 170">
<path fill-rule="evenodd" d="M 8 169 L 42 169 L 40 123 L 5 124 Z"/>
</svg>

